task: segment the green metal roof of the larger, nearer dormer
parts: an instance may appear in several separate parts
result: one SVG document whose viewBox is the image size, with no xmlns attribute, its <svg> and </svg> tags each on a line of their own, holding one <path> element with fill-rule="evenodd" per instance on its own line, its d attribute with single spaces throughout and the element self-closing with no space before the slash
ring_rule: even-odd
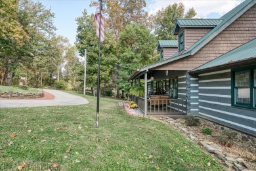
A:
<svg viewBox="0 0 256 171">
<path fill-rule="evenodd" d="M 177 35 L 180 28 L 214 28 L 223 19 L 188 19 L 179 18 L 176 20 L 175 27 L 173 29 L 173 34 Z"/>
</svg>

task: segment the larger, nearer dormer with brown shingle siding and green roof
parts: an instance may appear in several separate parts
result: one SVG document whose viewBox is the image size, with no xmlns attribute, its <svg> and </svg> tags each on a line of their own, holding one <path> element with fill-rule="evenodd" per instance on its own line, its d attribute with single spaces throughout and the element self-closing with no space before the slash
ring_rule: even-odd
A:
<svg viewBox="0 0 256 171">
<path fill-rule="evenodd" d="M 173 34 L 178 35 L 178 50 L 190 48 L 203 35 L 215 28 L 223 19 L 177 19 Z"/>
</svg>

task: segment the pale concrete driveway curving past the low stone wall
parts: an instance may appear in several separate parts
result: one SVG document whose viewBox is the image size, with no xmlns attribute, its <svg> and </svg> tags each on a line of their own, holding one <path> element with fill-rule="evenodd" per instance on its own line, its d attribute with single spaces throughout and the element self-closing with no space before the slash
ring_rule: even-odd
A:
<svg viewBox="0 0 256 171">
<path fill-rule="evenodd" d="M 0 100 L 0 107 L 36 107 L 53 105 L 81 105 L 89 104 L 85 98 L 62 92 L 60 90 L 44 90 L 53 94 L 53 100 Z"/>
</svg>

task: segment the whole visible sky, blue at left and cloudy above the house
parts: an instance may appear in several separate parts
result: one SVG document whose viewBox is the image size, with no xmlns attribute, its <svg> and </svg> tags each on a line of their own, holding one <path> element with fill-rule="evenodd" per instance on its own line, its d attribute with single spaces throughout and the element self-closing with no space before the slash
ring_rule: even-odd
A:
<svg viewBox="0 0 256 171">
<path fill-rule="evenodd" d="M 84 9 L 88 14 L 95 13 L 96 7 L 89 7 L 91 0 L 34 0 L 42 3 L 46 9 L 54 12 L 54 25 L 56 35 L 62 35 L 70 40 L 74 45 L 77 24 L 75 18 L 82 16 Z M 146 0 L 146 9 L 149 14 L 155 14 L 158 10 L 173 5 L 173 3 L 183 3 L 185 12 L 194 7 L 198 18 L 219 18 L 226 12 L 233 9 L 243 0 Z"/>
</svg>

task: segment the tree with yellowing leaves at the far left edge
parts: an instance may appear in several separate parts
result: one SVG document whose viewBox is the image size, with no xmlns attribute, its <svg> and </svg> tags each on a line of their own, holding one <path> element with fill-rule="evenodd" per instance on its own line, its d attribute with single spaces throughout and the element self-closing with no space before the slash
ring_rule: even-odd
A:
<svg viewBox="0 0 256 171">
<path fill-rule="evenodd" d="M 17 21 L 18 1 L 0 0 L 0 73 L 1 85 L 8 77 L 8 85 L 11 85 L 12 56 L 17 56 L 16 49 L 21 49 L 28 35 Z"/>
</svg>

